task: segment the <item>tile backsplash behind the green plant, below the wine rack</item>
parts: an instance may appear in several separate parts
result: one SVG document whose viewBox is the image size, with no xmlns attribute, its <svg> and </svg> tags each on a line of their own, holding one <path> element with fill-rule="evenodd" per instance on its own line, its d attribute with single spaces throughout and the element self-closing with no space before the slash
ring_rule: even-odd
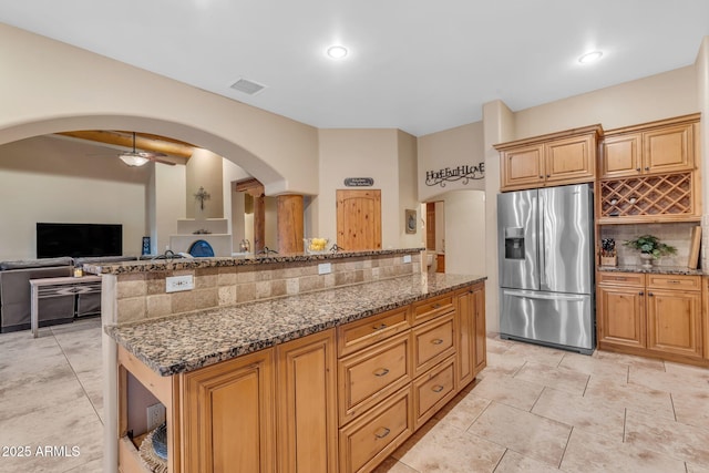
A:
<svg viewBox="0 0 709 473">
<path fill-rule="evenodd" d="M 640 254 L 624 243 L 641 235 L 655 235 L 661 243 L 677 248 L 675 255 L 662 256 L 657 266 L 686 267 L 689 259 L 691 245 L 691 232 L 699 223 L 672 223 L 672 224 L 637 224 L 637 225 L 605 225 L 600 228 L 600 238 L 615 238 L 618 253 L 618 265 L 640 265 Z M 700 259 L 701 260 L 701 259 Z"/>
</svg>

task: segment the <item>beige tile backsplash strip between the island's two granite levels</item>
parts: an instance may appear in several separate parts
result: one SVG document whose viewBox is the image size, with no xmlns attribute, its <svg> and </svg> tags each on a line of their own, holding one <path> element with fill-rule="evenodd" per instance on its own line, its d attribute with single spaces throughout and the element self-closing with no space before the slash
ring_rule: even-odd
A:
<svg viewBox="0 0 709 473">
<path fill-rule="evenodd" d="M 410 256 L 411 263 L 403 263 L 403 255 L 380 255 L 329 261 L 104 274 L 103 307 L 113 305 L 106 310 L 111 323 L 144 321 L 421 273 L 421 254 Z M 318 265 L 322 263 L 331 265 L 330 274 L 318 274 Z M 194 289 L 165 292 L 166 278 L 183 275 L 194 277 Z"/>
</svg>

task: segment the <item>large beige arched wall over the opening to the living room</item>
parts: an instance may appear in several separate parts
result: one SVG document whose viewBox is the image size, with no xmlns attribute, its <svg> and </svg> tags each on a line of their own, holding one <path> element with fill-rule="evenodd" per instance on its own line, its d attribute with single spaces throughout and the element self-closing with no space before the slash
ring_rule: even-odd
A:
<svg viewBox="0 0 709 473">
<path fill-rule="evenodd" d="M 39 59 L 41 58 L 41 60 Z M 234 161 L 266 193 L 318 193 L 317 130 L 0 24 L 0 144 L 69 130 L 136 130 Z"/>
</svg>

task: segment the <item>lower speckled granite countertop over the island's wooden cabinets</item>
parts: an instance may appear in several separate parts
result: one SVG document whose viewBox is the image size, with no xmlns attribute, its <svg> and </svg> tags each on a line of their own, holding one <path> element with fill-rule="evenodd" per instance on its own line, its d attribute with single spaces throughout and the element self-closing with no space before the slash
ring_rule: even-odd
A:
<svg viewBox="0 0 709 473">
<path fill-rule="evenodd" d="M 172 376 L 485 279 L 475 275 L 417 274 L 107 326 L 105 332 L 156 373 Z"/>
</svg>

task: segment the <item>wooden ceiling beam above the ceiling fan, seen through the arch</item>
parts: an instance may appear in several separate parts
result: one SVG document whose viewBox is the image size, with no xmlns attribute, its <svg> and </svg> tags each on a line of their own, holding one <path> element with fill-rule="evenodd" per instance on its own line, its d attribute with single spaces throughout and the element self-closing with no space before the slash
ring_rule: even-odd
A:
<svg viewBox="0 0 709 473">
<path fill-rule="evenodd" d="M 62 132 L 58 135 L 69 136 L 79 140 L 104 143 L 114 146 L 133 148 L 132 132 L 112 132 L 102 130 L 84 130 L 76 132 Z M 156 135 L 135 134 L 135 148 L 153 153 L 164 153 L 171 156 L 178 156 L 188 160 L 194 153 L 194 146 L 184 142 L 168 138 L 157 138 Z"/>
</svg>

